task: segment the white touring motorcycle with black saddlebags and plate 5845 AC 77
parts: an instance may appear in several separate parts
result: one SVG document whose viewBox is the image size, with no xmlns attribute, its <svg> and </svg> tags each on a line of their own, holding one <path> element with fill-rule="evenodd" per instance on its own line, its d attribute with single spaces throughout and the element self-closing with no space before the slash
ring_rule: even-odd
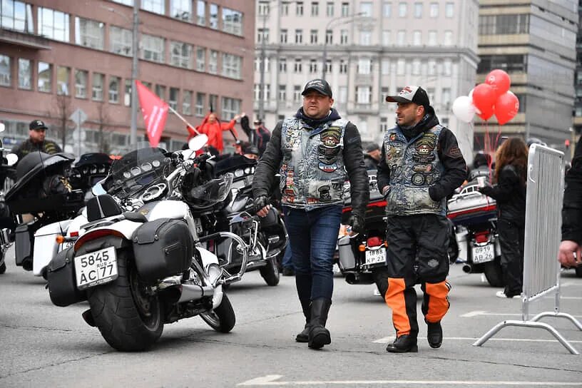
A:
<svg viewBox="0 0 582 388">
<path fill-rule="evenodd" d="M 195 180 L 201 158 L 190 150 L 165 155 L 159 148 L 136 150 L 116 160 L 103 190 L 87 203 L 86 223 L 71 221 L 67 236 L 46 267 L 51 301 L 68 306 L 88 300 L 83 318 L 98 327 L 111 347 L 148 349 L 165 323 L 200 315 L 214 330 L 229 332 L 235 313 L 223 285 L 241 279 L 248 247 L 233 233 L 199 238 L 197 213 L 225 206 L 232 175 Z M 73 230 L 76 229 L 76 230 Z M 226 260 L 201 245 L 230 238 Z M 242 266 L 225 270 L 233 250 Z"/>
</svg>

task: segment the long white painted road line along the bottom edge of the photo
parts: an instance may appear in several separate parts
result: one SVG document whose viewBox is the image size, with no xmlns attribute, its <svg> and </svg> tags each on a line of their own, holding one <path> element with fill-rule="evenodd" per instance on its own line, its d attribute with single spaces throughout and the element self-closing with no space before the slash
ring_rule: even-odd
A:
<svg viewBox="0 0 582 388">
<path fill-rule="evenodd" d="M 581 382 L 519 382 L 519 381 L 463 381 L 463 380 L 324 380 L 324 381 L 297 381 L 297 382 L 285 382 L 277 381 L 282 376 L 280 374 L 269 374 L 263 377 L 257 377 L 256 379 L 250 379 L 245 382 L 241 382 L 237 385 L 242 385 L 246 387 L 252 386 L 265 386 L 265 385 L 369 385 L 369 384 L 382 384 L 382 385 L 533 385 L 533 386 L 543 386 L 543 387 L 582 387 Z"/>
</svg>

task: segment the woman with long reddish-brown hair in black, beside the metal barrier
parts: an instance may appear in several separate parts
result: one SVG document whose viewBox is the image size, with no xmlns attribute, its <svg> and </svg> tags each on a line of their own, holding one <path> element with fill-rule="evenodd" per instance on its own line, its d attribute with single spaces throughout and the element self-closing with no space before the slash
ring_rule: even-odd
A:
<svg viewBox="0 0 582 388">
<path fill-rule="evenodd" d="M 528 148 L 521 138 L 508 138 L 495 154 L 494 185 L 479 188 L 497 202 L 497 231 L 505 290 L 498 297 L 519 297 L 524 282 L 526 173 Z"/>
</svg>

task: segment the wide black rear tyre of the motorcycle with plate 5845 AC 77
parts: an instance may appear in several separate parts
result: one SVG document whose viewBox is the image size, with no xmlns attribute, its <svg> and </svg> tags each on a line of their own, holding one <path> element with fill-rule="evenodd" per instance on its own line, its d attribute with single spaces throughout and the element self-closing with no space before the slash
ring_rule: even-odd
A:
<svg viewBox="0 0 582 388">
<path fill-rule="evenodd" d="M 114 349 L 139 352 L 162 335 L 162 305 L 148 295 L 127 250 L 117 251 L 119 277 L 87 292 L 91 315 L 103 338 Z"/>
</svg>

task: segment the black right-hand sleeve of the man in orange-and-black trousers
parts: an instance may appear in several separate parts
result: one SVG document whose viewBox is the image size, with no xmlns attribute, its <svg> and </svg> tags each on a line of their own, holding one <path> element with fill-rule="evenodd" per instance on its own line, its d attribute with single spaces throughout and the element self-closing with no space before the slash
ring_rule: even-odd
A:
<svg viewBox="0 0 582 388">
<path fill-rule="evenodd" d="M 449 128 L 443 128 L 439 135 L 439 159 L 444 165 L 441 178 L 429 187 L 432 200 L 439 201 L 451 195 L 463 184 L 466 178 L 466 162 L 459 149 L 454 133 Z M 379 186 L 378 186 L 379 187 Z"/>
</svg>

